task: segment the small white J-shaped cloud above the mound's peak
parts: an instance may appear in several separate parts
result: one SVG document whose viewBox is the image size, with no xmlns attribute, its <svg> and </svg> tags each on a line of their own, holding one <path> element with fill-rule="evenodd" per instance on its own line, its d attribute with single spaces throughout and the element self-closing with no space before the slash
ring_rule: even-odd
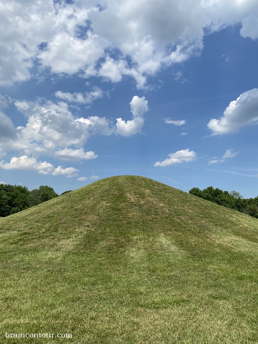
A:
<svg viewBox="0 0 258 344">
<path fill-rule="evenodd" d="M 143 115 L 148 111 L 148 100 L 145 97 L 134 96 L 129 104 L 133 119 L 124 121 L 122 118 L 117 118 L 117 133 L 122 136 L 132 136 L 136 133 L 141 133 L 144 125 Z"/>
</svg>

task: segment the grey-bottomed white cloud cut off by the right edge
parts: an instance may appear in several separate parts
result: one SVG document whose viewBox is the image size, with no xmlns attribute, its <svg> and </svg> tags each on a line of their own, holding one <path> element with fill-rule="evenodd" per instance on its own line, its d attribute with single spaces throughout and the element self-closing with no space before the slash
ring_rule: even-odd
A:
<svg viewBox="0 0 258 344">
<path fill-rule="evenodd" d="M 207 124 L 212 135 L 236 133 L 241 127 L 258 123 L 258 88 L 242 93 L 230 102 L 220 119 L 211 119 Z"/>
</svg>

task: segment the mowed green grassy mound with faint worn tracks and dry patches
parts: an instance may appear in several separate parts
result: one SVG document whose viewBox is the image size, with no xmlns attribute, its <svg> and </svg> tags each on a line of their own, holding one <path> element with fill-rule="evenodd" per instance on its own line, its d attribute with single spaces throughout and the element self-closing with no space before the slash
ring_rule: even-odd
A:
<svg viewBox="0 0 258 344">
<path fill-rule="evenodd" d="M 116 176 L 1 218 L 0 236 L 1 344 L 258 343 L 248 215 Z"/>
</svg>

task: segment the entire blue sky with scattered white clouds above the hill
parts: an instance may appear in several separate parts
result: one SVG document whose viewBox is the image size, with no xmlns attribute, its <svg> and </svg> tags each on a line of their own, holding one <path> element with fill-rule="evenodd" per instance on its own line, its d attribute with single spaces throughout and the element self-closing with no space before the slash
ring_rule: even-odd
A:
<svg viewBox="0 0 258 344">
<path fill-rule="evenodd" d="M 256 1 L 0 3 L 0 182 L 257 196 Z"/>
</svg>

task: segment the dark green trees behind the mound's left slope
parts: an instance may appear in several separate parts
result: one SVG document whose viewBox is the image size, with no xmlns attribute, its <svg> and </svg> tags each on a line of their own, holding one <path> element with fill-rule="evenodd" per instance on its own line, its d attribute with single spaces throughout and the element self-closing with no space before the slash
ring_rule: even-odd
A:
<svg viewBox="0 0 258 344">
<path fill-rule="evenodd" d="M 61 195 L 70 191 L 72 190 L 65 191 Z M 0 184 L 0 217 L 19 213 L 58 196 L 60 195 L 47 185 L 29 191 L 26 186 Z"/>
</svg>

